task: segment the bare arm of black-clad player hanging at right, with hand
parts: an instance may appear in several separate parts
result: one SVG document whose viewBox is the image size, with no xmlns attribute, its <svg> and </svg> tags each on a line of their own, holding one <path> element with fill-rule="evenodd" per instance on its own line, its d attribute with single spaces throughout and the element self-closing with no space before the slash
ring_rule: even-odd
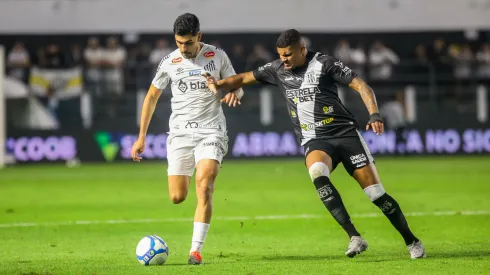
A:
<svg viewBox="0 0 490 275">
<path fill-rule="evenodd" d="M 352 79 L 349 87 L 361 95 L 362 101 L 368 109 L 369 121 L 366 125 L 366 130 L 369 130 L 369 127 L 371 127 L 376 134 L 381 135 L 384 132 L 384 123 L 379 113 L 378 103 L 376 102 L 373 89 L 358 76 Z"/>
</svg>

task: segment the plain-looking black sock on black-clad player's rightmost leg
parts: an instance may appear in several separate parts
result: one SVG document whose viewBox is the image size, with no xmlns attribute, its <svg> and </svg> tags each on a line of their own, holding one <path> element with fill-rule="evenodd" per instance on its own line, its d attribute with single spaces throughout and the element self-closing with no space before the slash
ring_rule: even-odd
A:
<svg viewBox="0 0 490 275">
<path fill-rule="evenodd" d="M 409 245 L 413 242 L 417 242 L 418 239 L 415 237 L 408 227 L 405 215 L 403 215 L 400 205 L 388 194 L 383 194 L 383 196 L 377 198 L 373 201 L 376 206 L 383 211 L 385 216 L 390 220 L 391 224 L 400 232 L 405 244 Z"/>
</svg>

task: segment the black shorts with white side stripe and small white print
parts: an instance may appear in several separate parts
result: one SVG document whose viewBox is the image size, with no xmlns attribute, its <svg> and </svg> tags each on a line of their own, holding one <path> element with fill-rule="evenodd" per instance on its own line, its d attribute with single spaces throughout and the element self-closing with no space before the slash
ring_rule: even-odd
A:
<svg viewBox="0 0 490 275">
<path fill-rule="evenodd" d="M 345 170 L 352 175 L 356 169 L 374 163 L 366 142 L 357 130 L 354 131 L 357 132 L 357 135 L 349 133 L 345 137 L 319 138 L 308 141 L 304 145 L 305 157 L 314 150 L 323 151 L 332 158 L 332 171 L 342 162 Z"/>
</svg>

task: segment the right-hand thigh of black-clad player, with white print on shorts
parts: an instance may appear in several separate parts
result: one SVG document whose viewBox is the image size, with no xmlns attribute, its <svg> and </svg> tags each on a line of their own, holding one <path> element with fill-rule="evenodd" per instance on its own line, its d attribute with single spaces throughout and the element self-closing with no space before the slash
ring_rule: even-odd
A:
<svg viewBox="0 0 490 275">
<path fill-rule="evenodd" d="M 354 136 L 341 138 L 339 152 L 345 170 L 362 188 L 379 183 L 374 158 L 359 131 Z"/>
</svg>

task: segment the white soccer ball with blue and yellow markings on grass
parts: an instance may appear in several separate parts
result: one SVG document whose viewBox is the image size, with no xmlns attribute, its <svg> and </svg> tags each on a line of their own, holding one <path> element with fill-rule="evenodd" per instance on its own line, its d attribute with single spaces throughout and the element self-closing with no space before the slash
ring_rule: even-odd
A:
<svg viewBox="0 0 490 275">
<path fill-rule="evenodd" d="M 162 265 L 167 257 L 168 246 L 156 235 L 144 237 L 136 246 L 136 259 L 142 265 Z"/>
</svg>

